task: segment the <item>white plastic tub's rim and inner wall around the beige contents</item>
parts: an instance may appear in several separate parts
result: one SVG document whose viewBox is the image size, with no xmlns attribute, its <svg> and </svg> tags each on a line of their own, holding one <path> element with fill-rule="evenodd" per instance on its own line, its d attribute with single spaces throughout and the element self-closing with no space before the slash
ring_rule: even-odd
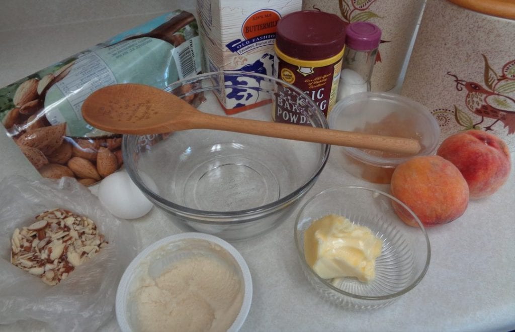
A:
<svg viewBox="0 0 515 332">
<path fill-rule="evenodd" d="M 210 245 L 215 244 L 221 247 L 222 250 L 225 250 L 226 253 L 229 253 L 229 255 L 232 256 L 233 260 L 227 259 L 228 255 L 224 256 L 220 254 L 220 257 L 228 264 L 233 265 L 234 268 L 238 270 L 238 272 L 241 272 L 239 275 L 241 276 L 243 282 L 243 302 L 241 309 L 236 316 L 236 319 L 228 331 L 235 332 L 242 327 L 245 319 L 247 318 L 252 302 L 252 278 L 250 276 L 247 263 L 243 259 L 242 255 L 239 254 L 239 252 L 233 246 L 221 238 L 209 234 L 192 232 L 171 235 L 161 239 L 160 241 L 150 245 L 145 250 L 143 250 L 129 264 L 122 276 L 120 283 L 118 284 L 118 289 L 116 292 L 116 319 L 122 331 L 130 332 L 136 330 L 134 326 L 136 320 L 131 316 L 135 306 L 133 305 L 134 303 L 130 300 L 134 286 L 138 282 L 139 277 L 142 276 L 142 273 L 145 273 L 145 271 L 143 271 L 144 268 L 147 268 L 147 270 L 153 270 L 153 272 L 155 272 L 157 269 L 159 270 L 157 274 L 160 274 L 170 265 L 170 263 L 173 263 L 175 255 L 179 259 L 184 257 L 184 246 L 190 248 L 192 243 L 198 243 L 198 241 L 206 242 Z M 192 250 L 194 250 L 195 254 L 201 254 L 202 250 L 205 250 L 205 248 L 199 245 L 194 247 Z M 153 266 L 149 266 L 148 262 L 146 262 L 147 257 L 153 254 L 155 255 L 157 252 L 159 252 L 157 263 L 152 263 Z M 213 252 L 214 251 L 211 250 L 209 254 L 212 255 Z"/>
</svg>

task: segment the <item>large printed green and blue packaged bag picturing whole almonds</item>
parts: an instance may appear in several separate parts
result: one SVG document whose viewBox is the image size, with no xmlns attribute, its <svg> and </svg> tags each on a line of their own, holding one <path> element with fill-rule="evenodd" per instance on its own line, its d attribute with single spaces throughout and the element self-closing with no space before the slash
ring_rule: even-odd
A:
<svg viewBox="0 0 515 332">
<path fill-rule="evenodd" d="M 86 123 L 83 101 L 118 83 L 163 89 L 200 73 L 201 54 L 195 17 L 177 10 L 0 89 L 0 120 L 43 177 L 92 185 L 122 166 L 122 137 Z"/>
</svg>

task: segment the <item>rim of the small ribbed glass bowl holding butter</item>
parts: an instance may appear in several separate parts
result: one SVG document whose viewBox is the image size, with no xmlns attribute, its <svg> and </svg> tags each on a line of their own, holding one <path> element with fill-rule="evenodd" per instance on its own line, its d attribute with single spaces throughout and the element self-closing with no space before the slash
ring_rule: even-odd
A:
<svg viewBox="0 0 515 332">
<path fill-rule="evenodd" d="M 383 296 L 357 295 L 357 294 L 350 293 L 350 292 L 347 292 L 345 290 L 341 290 L 341 289 L 333 286 L 326 279 L 321 278 L 315 271 L 313 271 L 311 266 L 309 266 L 306 263 L 306 260 L 305 260 L 305 257 L 304 257 L 304 248 L 301 248 L 301 244 L 299 242 L 299 229 L 298 229 L 298 226 L 299 226 L 300 216 L 301 216 L 302 212 L 307 207 L 307 205 L 310 204 L 317 197 L 319 197 L 321 195 L 324 195 L 324 194 L 327 194 L 327 193 L 330 193 L 330 192 L 341 192 L 341 191 L 344 191 L 344 190 L 347 190 L 347 189 L 366 190 L 366 191 L 373 192 L 374 194 L 376 193 L 376 194 L 379 194 L 379 195 L 386 196 L 386 197 L 392 199 L 393 201 L 397 202 L 399 205 L 401 205 L 411 215 L 413 215 L 415 217 L 415 221 L 417 222 L 417 224 L 419 226 L 419 229 L 422 231 L 422 234 L 425 237 L 426 252 L 427 252 L 426 260 L 425 260 L 424 268 L 422 269 L 420 274 L 417 276 L 417 278 L 411 284 L 409 284 L 407 287 L 403 288 L 402 290 L 394 292 L 394 293 L 391 293 L 391 294 L 388 294 L 388 295 L 383 295 Z M 402 222 L 402 221 L 399 220 L 399 222 Z M 416 229 L 415 227 L 413 227 L 413 228 Z M 417 286 L 420 283 L 420 281 L 422 281 L 422 279 L 424 278 L 424 276 L 425 276 L 425 274 L 427 272 L 427 269 L 429 268 L 429 264 L 430 264 L 430 261 L 431 261 L 431 244 L 430 244 L 430 241 L 429 241 L 429 237 L 427 235 L 427 232 L 425 230 L 424 225 L 420 222 L 420 219 L 418 218 L 418 216 L 408 206 L 406 206 L 402 201 L 400 201 L 396 197 L 393 197 L 392 195 L 387 194 L 387 193 L 385 193 L 385 192 L 383 192 L 381 190 L 372 189 L 372 188 L 366 188 L 366 187 L 361 187 L 361 186 L 340 186 L 340 187 L 328 188 L 328 189 L 325 189 L 325 190 L 315 194 L 313 197 L 308 199 L 302 205 L 302 207 L 300 208 L 299 212 L 297 213 L 297 217 L 295 218 L 294 240 L 295 240 L 295 247 L 297 249 L 297 254 L 298 254 L 299 258 L 300 258 L 301 264 L 304 266 L 305 269 L 307 269 L 310 272 L 311 275 L 313 275 L 325 287 L 328 287 L 328 288 L 334 290 L 335 292 L 337 292 L 339 294 L 348 296 L 348 297 L 353 298 L 353 299 L 358 299 L 358 300 L 372 300 L 372 301 L 378 301 L 379 300 L 379 301 L 381 301 L 381 300 L 390 300 L 390 299 L 395 299 L 395 298 L 400 297 L 401 295 L 403 295 L 403 294 L 407 293 L 408 291 L 410 291 L 411 289 L 415 288 L 415 286 Z"/>
</svg>

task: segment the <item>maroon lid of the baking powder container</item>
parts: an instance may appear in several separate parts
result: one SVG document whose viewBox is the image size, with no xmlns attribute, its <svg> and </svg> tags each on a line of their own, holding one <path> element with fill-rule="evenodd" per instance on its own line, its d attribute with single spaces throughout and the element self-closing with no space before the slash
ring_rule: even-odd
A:
<svg viewBox="0 0 515 332">
<path fill-rule="evenodd" d="M 345 23 L 335 14 L 303 10 L 277 23 L 276 45 L 287 56 L 322 60 L 336 56 L 345 45 Z"/>
</svg>

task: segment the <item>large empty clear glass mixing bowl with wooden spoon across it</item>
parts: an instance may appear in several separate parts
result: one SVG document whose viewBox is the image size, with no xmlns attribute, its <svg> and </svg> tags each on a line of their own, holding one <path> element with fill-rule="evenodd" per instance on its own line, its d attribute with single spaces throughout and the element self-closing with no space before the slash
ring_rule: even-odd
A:
<svg viewBox="0 0 515 332">
<path fill-rule="evenodd" d="M 261 106 L 231 117 L 269 122 L 271 101 L 287 91 L 307 125 L 328 128 L 301 90 L 268 76 L 212 72 L 166 90 L 194 104 L 205 99 L 198 109 L 221 116 L 226 113 L 215 93 L 258 100 Z M 328 144 L 199 129 L 123 139 L 127 172 L 153 204 L 185 231 L 229 241 L 257 236 L 286 220 L 315 183 L 329 150 Z"/>
</svg>

